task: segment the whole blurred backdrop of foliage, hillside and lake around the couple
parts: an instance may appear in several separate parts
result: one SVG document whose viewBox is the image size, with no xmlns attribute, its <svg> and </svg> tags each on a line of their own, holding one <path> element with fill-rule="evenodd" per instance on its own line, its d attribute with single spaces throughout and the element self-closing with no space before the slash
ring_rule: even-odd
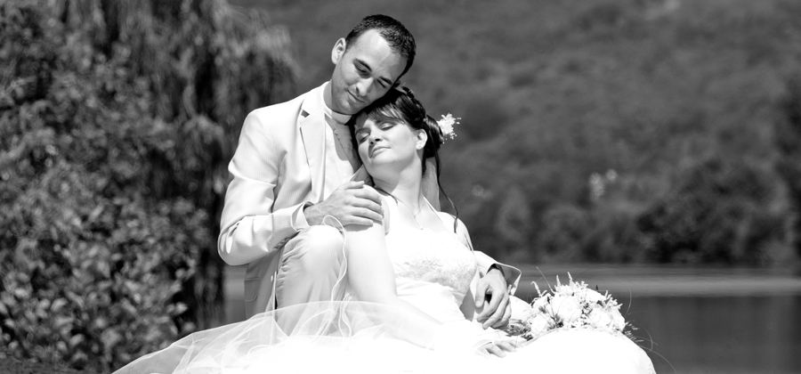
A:
<svg viewBox="0 0 801 374">
<path fill-rule="evenodd" d="M 0 0 L 0 358 L 109 371 L 241 321 L 239 127 L 379 12 L 519 297 L 610 290 L 659 373 L 801 372 L 795 0 Z"/>
</svg>

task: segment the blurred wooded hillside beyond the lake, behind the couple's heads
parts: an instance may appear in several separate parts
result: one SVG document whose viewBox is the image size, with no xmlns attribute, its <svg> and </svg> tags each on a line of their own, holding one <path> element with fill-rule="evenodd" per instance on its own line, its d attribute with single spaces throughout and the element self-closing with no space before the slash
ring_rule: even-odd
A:
<svg viewBox="0 0 801 374">
<path fill-rule="evenodd" d="M 435 117 L 462 118 L 442 180 L 476 248 L 537 263 L 797 261 L 797 1 L 233 3 L 286 25 L 299 93 L 330 77 L 331 47 L 361 17 L 409 27 L 407 85 Z"/>
</svg>

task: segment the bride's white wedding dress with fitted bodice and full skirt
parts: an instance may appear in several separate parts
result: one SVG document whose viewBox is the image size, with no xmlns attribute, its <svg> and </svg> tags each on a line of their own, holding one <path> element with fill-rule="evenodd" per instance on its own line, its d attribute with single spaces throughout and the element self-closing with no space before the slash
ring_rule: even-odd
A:
<svg viewBox="0 0 801 374">
<path fill-rule="evenodd" d="M 389 202 L 397 216 L 397 203 Z M 119 372 L 654 372 L 627 337 L 590 329 L 546 334 L 505 358 L 476 355 L 477 346 L 505 335 L 481 329 L 459 308 L 476 272 L 472 251 L 452 232 L 401 226 L 387 232 L 386 242 L 398 296 L 441 321 L 437 331 L 399 308 L 354 300 L 343 278 L 343 301 L 279 308 L 200 331 Z"/>
</svg>

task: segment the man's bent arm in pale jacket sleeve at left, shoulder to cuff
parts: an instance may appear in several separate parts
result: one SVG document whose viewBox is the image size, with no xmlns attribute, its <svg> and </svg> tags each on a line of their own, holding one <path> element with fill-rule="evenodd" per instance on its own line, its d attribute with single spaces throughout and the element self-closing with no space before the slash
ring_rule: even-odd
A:
<svg viewBox="0 0 801 374">
<path fill-rule="evenodd" d="M 227 264 L 247 264 L 277 250 L 295 234 L 293 218 L 303 203 L 273 210 L 282 152 L 253 111 L 242 126 L 229 171 L 217 249 Z"/>
</svg>

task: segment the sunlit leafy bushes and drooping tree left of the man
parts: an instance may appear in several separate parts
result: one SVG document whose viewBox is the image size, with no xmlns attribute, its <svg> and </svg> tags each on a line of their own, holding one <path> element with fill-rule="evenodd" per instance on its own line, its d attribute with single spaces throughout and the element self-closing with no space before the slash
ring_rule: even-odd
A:
<svg viewBox="0 0 801 374">
<path fill-rule="evenodd" d="M 113 370 L 218 323 L 239 126 L 286 37 L 214 1 L 0 2 L 0 345 Z M 202 305 L 202 307 L 201 307 Z"/>
</svg>

